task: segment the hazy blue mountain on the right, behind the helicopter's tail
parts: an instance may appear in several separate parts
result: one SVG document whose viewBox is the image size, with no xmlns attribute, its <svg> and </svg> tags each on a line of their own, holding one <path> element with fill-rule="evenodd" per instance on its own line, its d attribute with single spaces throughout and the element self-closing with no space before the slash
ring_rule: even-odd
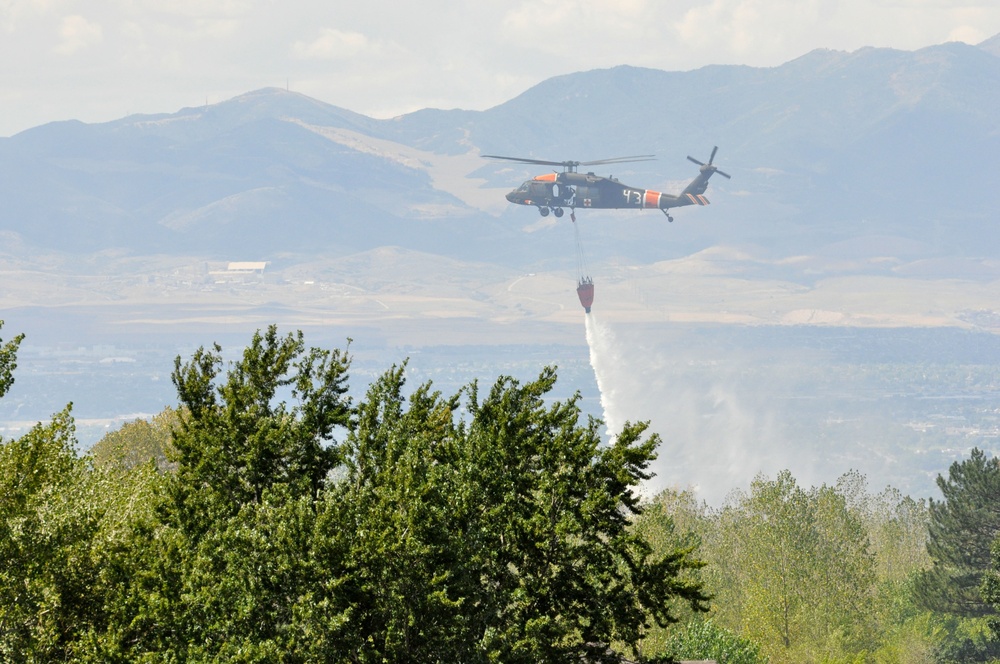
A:
<svg viewBox="0 0 1000 664">
<path fill-rule="evenodd" d="M 437 137 L 442 150 L 446 128 L 461 126 L 463 140 L 490 153 L 655 153 L 658 161 L 615 174 L 668 191 L 693 175 L 684 156 L 704 159 L 719 145 L 719 163 L 736 178 L 717 178 L 709 197 L 725 201 L 728 213 L 698 212 L 725 237 L 806 251 L 858 234 L 898 234 L 976 254 L 983 233 L 1000 240 L 988 224 L 1000 206 L 998 109 L 1000 59 L 951 43 L 916 52 L 818 50 L 774 68 L 589 71 L 552 78 L 481 114 L 425 111 L 390 128 L 403 142 Z M 537 170 L 503 164 L 479 174 L 514 185 Z"/>
</svg>

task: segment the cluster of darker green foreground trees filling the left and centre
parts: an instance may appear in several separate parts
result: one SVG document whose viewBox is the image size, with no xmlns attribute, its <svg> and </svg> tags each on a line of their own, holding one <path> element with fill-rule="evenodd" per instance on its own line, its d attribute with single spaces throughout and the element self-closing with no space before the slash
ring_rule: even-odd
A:
<svg viewBox="0 0 1000 664">
<path fill-rule="evenodd" d="M 0 653 L 554 662 L 704 608 L 690 547 L 631 527 L 644 424 L 603 443 L 553 368 L 443 396 L 404 363 L 355 404 L 350 362 L 270 327 L 178 358 L 131 439 L 80 457 L 67 408 L 5 443 Z"/>
</svg>

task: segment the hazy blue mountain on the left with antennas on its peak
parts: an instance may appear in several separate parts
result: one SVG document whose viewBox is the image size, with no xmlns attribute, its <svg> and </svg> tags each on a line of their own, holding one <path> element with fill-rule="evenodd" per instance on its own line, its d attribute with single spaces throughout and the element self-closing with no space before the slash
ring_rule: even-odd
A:
<svg viewBox="0 0 1000 664">
<path fill-rule="evenodd" d="M 411 210 L 463 208 L 412 166 L 325 139 L 308 123 L 373 121 L 281 90 L 206 109 L 45 125 L 0 141 L 0 228 L 61 250 L 354 251 L 440 245 L 449 224 Z M 452 225 L 454 225 L 452 223 Z M 436 240 L 436 242 L 435 242 Z"/>
</svg>

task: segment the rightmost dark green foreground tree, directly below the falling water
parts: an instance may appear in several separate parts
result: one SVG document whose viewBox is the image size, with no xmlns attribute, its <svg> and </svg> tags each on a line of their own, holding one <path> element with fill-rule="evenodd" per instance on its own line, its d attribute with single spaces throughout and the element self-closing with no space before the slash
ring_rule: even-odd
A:
<svg viewBox="0 0 1000 664">
<path fill-rule="evenodd" d="M 629 528 L 659 438 L 626 423 L 603 447 L 600 423 L 579 422 L 579 395 L 546 409 L 555 380 L 554 369 L 524 386 L 502 378 L 482 401 L 473 386 L 464 428 L 492 540 L 482 552 L 494 585 L 483 602 L 498 619 L 488 641 L 514 661 L 565 661 L 613 641 L 634 648 L 652 621 L 676 620 L 675 602 L 707 600 L 684 574 L 701 565 L 689 549 L 654 557 Z"/>
</svg>

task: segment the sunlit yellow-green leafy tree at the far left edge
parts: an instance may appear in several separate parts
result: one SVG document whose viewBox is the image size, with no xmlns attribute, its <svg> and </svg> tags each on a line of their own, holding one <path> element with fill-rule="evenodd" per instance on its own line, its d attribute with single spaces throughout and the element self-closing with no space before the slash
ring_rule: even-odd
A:
<svg viewBox="0 0 1000 664">
<path fill-rule="evenodd" d="M 2 661 L 88 659 L 134 616 L 120 589 L 145 568 L 138 525 L 152 520 L 159 474 L 95 469 L 75 448 L 71 406 L 0 446 Z"/>
</svg>

